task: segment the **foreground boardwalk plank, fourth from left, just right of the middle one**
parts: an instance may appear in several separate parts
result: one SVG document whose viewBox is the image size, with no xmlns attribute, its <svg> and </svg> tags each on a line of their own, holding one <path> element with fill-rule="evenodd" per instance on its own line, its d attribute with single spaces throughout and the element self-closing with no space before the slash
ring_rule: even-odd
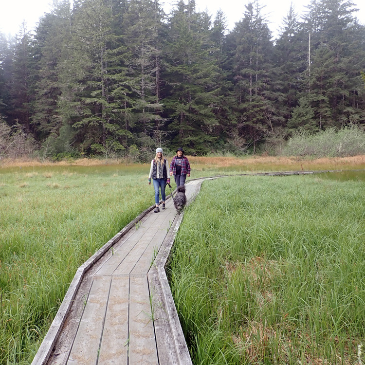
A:
<svg viewBox="0 0 365 365">
<path fill-rule="evenodd" d="M 130 278 L 129 365 L 158 365 L 147 276 Z"/>
</svg>

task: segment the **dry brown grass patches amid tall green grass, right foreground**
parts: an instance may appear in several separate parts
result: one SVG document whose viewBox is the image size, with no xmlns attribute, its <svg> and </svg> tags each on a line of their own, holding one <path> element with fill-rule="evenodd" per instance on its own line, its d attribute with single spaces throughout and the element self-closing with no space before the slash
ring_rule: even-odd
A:
<svg viewBox="0 0 365 365">
<path fill-rule="evenodd" d="M 264 289 L 271 285 L 275 276 L 282 274 L 278 261 L 259 256 L 245 263 L 227 261 L 225 270 L 229 276 L 239 271 L 247 277 L 249 288 L 256 293 L 257 305 L 260 308 L 272 300 L 272 293 Z M 241 275 L 240 273 L 238 274 Z M 296 325 L 287 315 L 288 313 L 275 325 L 268 325 L 264 315 L 257 316 L 256 321 L 245 320 L 244 325 L 232 333 L 232 341 L 252 364 L 264 363 L 269 352 L 270 356 L 275 357 L 277 364 L 288 364 L 294 360 L 299 364 L 328 365 L 329 362 L 322 358 L 323 348 L 315 343 L 309 333 L 297 333 L 298 343 L 292 343 L 292 332 L 296 330 Z M 301 348 L 298 348 L 298 344 Z M 344 358 L 340 357 L 338 348 L 334 351 L 338 364 L 352 364 L 348 347 L 345 349 Z"/>
</svg>

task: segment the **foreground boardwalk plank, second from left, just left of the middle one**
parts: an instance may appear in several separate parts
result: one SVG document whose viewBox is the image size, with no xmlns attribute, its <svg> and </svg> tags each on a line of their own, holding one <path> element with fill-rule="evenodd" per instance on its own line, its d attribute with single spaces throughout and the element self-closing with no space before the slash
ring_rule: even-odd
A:
<svg viewBox="0 0 365 365">
<path fill-rule="evenodd" d="M 68 365 L 96 364 L 109 298 L 110 281 L 111 278 L 108 276 L 94 276 L 67 362 Z"/>
</svg>

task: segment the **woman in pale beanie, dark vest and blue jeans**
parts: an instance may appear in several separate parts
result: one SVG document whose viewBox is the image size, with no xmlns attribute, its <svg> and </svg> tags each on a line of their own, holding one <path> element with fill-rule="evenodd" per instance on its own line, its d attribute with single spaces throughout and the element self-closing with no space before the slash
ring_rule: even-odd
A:
<svg viewBox="0 0 365 365">
<path fill-rule="evenodd" d="M 162 148 L 156 149 L 156 156 L 151 161 L 151 168 L 149 170 L 148 175 L 148 184 L 151 184 L 151 178 L 153 180 L 153 187 L 155 188 L 155 202 L 156 208 L 154 210 L 155 213 L 160 211 L 159 204 L 160 204 L 160 189 L 161 189 L 161 198 L 162 198 L 162 209 L 165 208 L 165 188 L 166 184 L 170 183 L 170 179 L 167 176 L 167 166 L 168 162 L 164 158 L 164 151 Z"/>
</svg>

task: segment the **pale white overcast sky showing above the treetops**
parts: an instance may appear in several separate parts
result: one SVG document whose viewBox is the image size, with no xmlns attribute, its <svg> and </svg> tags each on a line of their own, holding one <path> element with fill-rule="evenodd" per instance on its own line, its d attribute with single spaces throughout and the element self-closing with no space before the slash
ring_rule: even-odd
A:
<svg viewBox="0 0 365 365">
<path fill-rule="evenodd" d="M 365 24 L 365 1 L 353 1 L 356 7 L 360 9 L 356 13 L 357 18 L 362 24 Z M 172 8 L 171 4 L 176 2 L 176 0 L 171 0 L 161 3 L 164 4 L 165 12 L 169 12 Z M 249 0 L 196 0 L 196 6 L 198 11 L 207 10 L 212 15 L 212 19 L 214 19 L 220 8 L 226 16 L 228 29 L 231 30 L 235 23 L 243 18 L 244 5 L 248 2 Z M 274 36 L 277 36 L 278 28 L 282 24 L 282 19 L 287 15 L 291 2 L 295 7 L 296 13 L 300 16 L 306 11 L 305 5 L 308 5 L 310 0 L 260 1 L 262 5 L 265 5 L 262 14 L 266 15 Z M 14 36 L 18 33 L 23 20 L 27 24 L 27 29 L 32 30 L 43 13 L 50 11 L 51 4 L 51 0 L 0 0 L 0 32 Z"/>
</svg>

